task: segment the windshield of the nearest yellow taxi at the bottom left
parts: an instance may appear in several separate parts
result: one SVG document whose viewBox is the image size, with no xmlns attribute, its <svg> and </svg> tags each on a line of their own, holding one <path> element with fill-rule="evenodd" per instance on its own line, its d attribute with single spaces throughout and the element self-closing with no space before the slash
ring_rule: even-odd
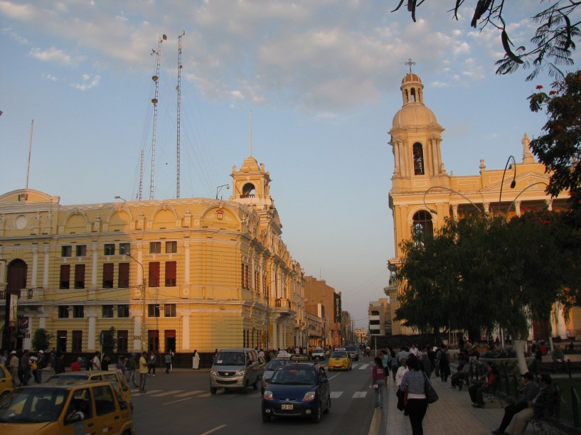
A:
<svg viewBox="0 0 581 435">
<path fill-rule="evenodd" d="M 57 421 L 68 397 L 60 388 L 26 387 L 14 390 L 0 402 L 0 421 L 50 423 Z"/>
</svg>

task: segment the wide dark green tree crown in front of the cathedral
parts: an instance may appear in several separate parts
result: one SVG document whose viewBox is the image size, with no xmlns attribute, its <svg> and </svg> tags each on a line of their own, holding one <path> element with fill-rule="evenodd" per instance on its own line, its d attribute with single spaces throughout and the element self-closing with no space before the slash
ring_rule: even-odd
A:
<svg viewBox="0 0 581 435">
<path fill-rule="evenodd" d="M 543 210 L 505 222 L 485 215 L 447 220 L 423 245 L 404 242 L 397 320 L 422 332 L 449 327 L 479 336 L 501 325 L 528 335 L 553 303 L 579 304 L 580 237 L 564 215 Z"/>
</svg>

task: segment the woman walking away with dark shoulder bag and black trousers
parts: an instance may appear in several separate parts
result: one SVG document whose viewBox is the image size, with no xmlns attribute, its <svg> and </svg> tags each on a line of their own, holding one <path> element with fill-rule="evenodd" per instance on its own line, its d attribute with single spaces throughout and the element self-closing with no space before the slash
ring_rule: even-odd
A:
<svg viewBox="0 0 581 435">
<path fill-rule="evenodd" d="M 400 384 L 400 391 L 407 390 L 407 415 L 410 417 L 413 435 L 423 435 L 422 420 L 427 411 L 427 400 L 425 394 L 425 382 L 430 384 L 424 372 L 420 370 L 420 361 L 415 355 L 407 358 L 409 371 L 403 375 Z"/>
</svg>

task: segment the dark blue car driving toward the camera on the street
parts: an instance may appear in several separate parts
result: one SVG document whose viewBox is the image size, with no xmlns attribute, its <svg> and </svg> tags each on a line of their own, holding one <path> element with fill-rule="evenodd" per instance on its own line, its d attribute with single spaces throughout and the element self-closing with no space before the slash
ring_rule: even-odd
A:
<svg viewBox="0 0 581 435">
<path fill-rule="evenodd" d="M 309 417 L 319 423 L 331 409 L 331 391 L 319 365 L 287 363 L 274 370 L 262 394 L 262 421 L 272 417 Z"/>
</svg>

